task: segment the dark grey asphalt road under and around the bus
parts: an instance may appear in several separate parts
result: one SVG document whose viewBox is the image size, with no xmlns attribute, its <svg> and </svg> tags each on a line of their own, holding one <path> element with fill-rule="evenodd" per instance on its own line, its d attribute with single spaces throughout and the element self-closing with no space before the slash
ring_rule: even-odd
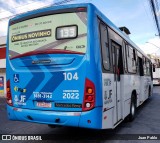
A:
<svg viewBox="0 0 160 143">
<path fill-rule="evenodd" d="M 5 98 L 0 95 L 0 135 L 2 134 L 47 134 L 47 137 L 55 138 L 52 142 L 150 143 L 154 140 L 137 141 L 130 139 L 134 136 L 139 136 L 139 134 L 140 136 L 142 134 L 144 134 L 144 136 L 146 136 L 145 134 L 159 134 L 160 136 L 160 86 L 154 87 L 153 96 L 137 109 L 136 118 L 133 122 L 124 121 L 114 130 L 89 130 L 69 127 L 49 128 L 44 124 L 9 121 L 6 114 Z M 118 140 L 115 140 L 116 138 L 118 138 Z M 124 139 L 129 141 L 124 141 Z M 160 140 L 154 142 L 158 143 Z"/>
</svg>

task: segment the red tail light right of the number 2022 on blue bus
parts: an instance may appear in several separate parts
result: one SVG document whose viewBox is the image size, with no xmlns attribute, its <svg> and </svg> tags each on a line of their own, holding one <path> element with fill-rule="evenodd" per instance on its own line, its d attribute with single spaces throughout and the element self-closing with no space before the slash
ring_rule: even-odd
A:
<svg viewBox="0 0 160 143">
<path fill-rule="evenodd" d="M 95 107 L 95 86 L 92 81 L 86 78 L 82 111 L 88 111 L 93 109 L 94 107 Z"/>
</svg>

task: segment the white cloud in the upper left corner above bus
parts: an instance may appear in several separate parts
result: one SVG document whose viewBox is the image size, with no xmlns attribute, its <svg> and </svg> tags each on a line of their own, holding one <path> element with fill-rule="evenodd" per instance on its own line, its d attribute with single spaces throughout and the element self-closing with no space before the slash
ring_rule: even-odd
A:
<svg viewBox="0 0 160 143">
<path fill-rule="evenodd" d="M 53 2 L 54 0 L 24 0 L 17 3 L 15 0 L 1 0 L 3 8 L 0 8 L 0 36 L 7 35 L 8 20 L 5 19 L 6 17 L 49 6 Z"/>
</svg>

